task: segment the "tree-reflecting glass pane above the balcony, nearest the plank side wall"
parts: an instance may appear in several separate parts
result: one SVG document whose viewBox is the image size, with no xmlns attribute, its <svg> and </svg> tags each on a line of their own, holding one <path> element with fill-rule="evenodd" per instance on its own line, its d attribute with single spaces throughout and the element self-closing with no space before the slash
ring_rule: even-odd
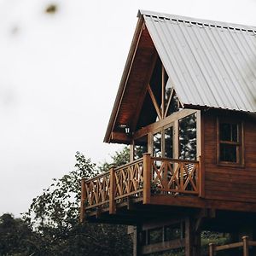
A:
<svg viewBox="0 0 256 256">
<path fill-rule="evenodd" d="M 196 115 L 195 113 L 180 119 L 179 126 L 179 158 L 196 160 Z"/>
</svg>

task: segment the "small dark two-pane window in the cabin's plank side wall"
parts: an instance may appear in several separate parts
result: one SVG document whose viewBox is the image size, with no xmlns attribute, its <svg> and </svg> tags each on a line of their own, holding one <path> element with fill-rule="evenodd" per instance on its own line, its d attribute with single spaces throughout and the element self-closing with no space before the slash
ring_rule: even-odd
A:
<svg viewBox="0 0 256 256">
<path fill-rule="evenodd" d="M 218 162 L 227 165 L 241 165 L 242 154 L 242 124 L 218 121 Z"/>
</svg>

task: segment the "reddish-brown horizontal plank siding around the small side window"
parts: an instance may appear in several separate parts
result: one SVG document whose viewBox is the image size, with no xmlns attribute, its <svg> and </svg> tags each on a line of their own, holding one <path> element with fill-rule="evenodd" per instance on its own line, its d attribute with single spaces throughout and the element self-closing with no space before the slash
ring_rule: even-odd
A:
<svg viewBox="0 0 256 256">
<path fill-rule="evenodd" d="M 204 116 L 205 197 L 225 201 L 256 202 L 256 121 L 247 114 L 208 111 Z M 217 164 L 217 118 L 243 121 L 243 167 Z"/>
</svg>

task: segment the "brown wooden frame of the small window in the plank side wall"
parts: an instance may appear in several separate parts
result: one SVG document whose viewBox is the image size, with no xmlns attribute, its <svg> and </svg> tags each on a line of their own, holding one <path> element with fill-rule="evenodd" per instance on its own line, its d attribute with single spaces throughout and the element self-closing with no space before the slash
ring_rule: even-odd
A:
<svg viewBox="0 0 256 256">
<path fill-rule="evenodd" d="M 238 128 L 238 142 L 222 141 L 220 140 L 220 124 L 237 125 Z M 235 145 L 236 146 L 236 162 L 220 160 L 220 146 L 221 144 Z M 243 121 L 236 119 L 217 118 L 217 164 L 218 166 L 230 166 L 230 167 L 244 167 L 244 128 Z"/>
</svg>

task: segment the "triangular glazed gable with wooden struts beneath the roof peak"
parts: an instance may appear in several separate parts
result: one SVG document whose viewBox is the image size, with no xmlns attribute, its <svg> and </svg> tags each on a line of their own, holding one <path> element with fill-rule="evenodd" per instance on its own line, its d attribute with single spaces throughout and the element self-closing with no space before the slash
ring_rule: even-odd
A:
<svg viewBox="0 0 256 256">
<path fill-rule="evenodd" d="M 137 129 L 164 119 L 181 108 L 171 79 L 169 79 L 166 69 L 158 57 L 147 85 L 147 93 L 137 122 Z"/>
</svg>

